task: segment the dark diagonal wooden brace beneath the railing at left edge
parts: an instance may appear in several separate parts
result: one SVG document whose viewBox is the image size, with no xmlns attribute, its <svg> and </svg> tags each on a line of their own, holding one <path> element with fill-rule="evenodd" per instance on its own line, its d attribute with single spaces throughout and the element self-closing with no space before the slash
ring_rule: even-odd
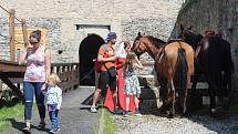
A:
<svg viewBox="0 0 238 134">
<path fill-rule="evenodd" d="M 1 80 L 3 83 L 6 83 L 12 91 L 13 93 L 21 100 L 24 99 L 23 93 L 18 89 L 3 73 L 0 72 Z"/>
</svg>

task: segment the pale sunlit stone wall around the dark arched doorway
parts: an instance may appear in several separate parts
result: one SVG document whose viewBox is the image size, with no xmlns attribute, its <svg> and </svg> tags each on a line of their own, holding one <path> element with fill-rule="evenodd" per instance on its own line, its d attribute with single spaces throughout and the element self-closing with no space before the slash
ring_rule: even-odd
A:
<svg viewBox="0 0 238 134">
<path fill-rule="evenodd" d="M 15 9 L 18 18 L 25 18 L 29 28 L 46 28 L 53 62 L 79 62 L 79 48 L 86 37 L 76 24 L 108 25 L 121 40 L 133 41 L 141 31 L 167 40 L 184 0 L 2 0 L 1 6 Z M 8 16 L 0 9 L 0 33 Z M 97 33 L 99 34 L 99 33 Z M 102 38 L 105 38 L 102 37 Z M 0 48 L 8 50 L 1 40 Z M 62 54 L 58 54 L 63 50 Z M 2 54 L 2 51 L 1 51 Z M 7 51 L 4 55 L 8 54 Z M 0 56 L 1 58 L 1 56 Z M 143 61 L 152 60 L 148 54 Z M 152 68 L 145 72 L 151 72 Z"/>
</svg>

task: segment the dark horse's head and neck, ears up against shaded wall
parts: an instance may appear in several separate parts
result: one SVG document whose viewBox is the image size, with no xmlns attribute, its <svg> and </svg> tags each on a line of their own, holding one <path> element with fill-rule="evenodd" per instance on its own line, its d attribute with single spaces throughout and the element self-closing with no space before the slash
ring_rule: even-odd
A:
<svg viewBox="0 0 238 134">
<path fill-rule="evenodd" d="M 190 44 L 194 50 L 196 50 L 204 37 L 201 34 L 196 34 L 195 32 L 193 32 L 192 27 L 185 30 L 180 24 L 180 34 L 178 35 L 178 38 L 182 38 L 186 43 Z"/>
</svg>

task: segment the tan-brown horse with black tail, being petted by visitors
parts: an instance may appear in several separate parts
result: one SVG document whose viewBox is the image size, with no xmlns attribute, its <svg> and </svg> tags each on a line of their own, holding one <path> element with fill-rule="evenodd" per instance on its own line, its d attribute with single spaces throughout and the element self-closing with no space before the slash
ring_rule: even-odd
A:
<svg viewBox="0 0 238 134">
<path fill-rule="evenodd" d="M 147 52 L 155 60 L 154 68 L 161 85 L 159 93 L 163 97 L 163 107 L 169 104 L 169 115 L 173 117 L 175 114 L 175 96 L 178 92 L 179 106 L 183 109 L 183 114 L 185 114 L 187 89 L 190 86 L 190 75 L 194 70 L 193 48 L 179 40 L 166 44 L 159 39 L 138 33 L 138 37 L 134 40 L 132 51 L 137 55 Z"/>
</svg>

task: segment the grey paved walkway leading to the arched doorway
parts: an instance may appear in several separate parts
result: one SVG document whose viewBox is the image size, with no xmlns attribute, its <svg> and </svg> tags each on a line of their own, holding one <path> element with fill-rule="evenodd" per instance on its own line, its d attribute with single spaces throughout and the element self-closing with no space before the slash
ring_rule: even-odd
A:
<svg viewBox="0 0 238 134">
<path fill-rule="evenodd" d="M 97 123 L 97 114 L 90 113 L 92 93 L 94 87 L 79 87 L 63 94 L 62 107 L 59 113 L 60 117 L 60 134 L 92 134 Z M 24 127 L 23 117 L 19 121 L 10 118 L 12 127 L 3 132 L 3 134 L 21 134 L 21 128 Z M 44 131 L 37 130 L 39 124 L 38 111 L 32 116 L 32 134 L 48 134 L 51 126 L 50 120 L 46 116 L 46 128 Z"/>
</svg>

